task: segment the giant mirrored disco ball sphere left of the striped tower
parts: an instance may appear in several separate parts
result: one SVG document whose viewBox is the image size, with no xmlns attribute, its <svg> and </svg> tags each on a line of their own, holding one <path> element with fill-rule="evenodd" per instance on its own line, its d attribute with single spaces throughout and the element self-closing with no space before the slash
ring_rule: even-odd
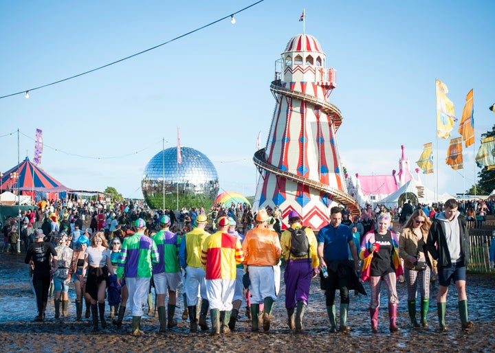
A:
<svg viewBox="0 0 495 353">
<path fill-rule="evenodd" d="M 151 209 L 212 206 L 219 192 L 213 163 L 199 150 L 189 147 L 181 147 L 181 157 L 182 163 L 177 163 L 177 147 L 167 148 L 144 168 L 141 188 Z"/>
</svg>

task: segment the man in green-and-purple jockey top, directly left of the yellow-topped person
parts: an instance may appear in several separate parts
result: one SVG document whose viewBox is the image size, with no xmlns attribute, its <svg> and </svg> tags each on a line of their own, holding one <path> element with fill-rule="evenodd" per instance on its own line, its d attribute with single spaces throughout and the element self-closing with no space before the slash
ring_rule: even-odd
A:
<svg viewBox="0 0 495 353">
<path fill-rule="evenodd" d="M 170 217 L 159 218 L 160 230 L 152 238 L 158 249 L 159 262 L 153 266 L 153 283 L 157 295 L 159 332 L 165 332 L 165 327 L 177 326 L 174 320 L 175 304 L 177 301 L 177 286 L 181 280 L 179 268 L 179 246 L 177 234 L 170 230 Z M 167 312 L 165 312 L 165 297 L 168 291 Z M 168 323 L 166 317 L 168 316 Z"/>
</svg>

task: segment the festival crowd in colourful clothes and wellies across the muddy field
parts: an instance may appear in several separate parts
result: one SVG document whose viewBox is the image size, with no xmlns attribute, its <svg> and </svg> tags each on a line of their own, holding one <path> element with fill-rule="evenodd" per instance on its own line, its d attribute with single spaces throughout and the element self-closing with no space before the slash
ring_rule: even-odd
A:
<svg viewBox="0 0 495 353">
<path fill-rule="evenodd" d="M 45 208 L 31 212 L 35 214 L 34 231 L 30 232 L 30 244 L 25 245 L 25 263 L 32 269 L 38 305 L 34 320 L 45 319 L 50 287 L 55 318 L 67 317 L 67 293 L 72 284 L 76 320 L 82 320 L 85 302 L 85 317 L 91 317 L 94 332 L 107 327 L 107 305 L 112 323 L 119 328 L 130 306 L 133 335 L 142 334 L 146 306 L 148 315 L 157 312 L 158 332 L 167 332 L 177 326 L 175 308 L 182 283 L 181 318 L 189 319 L 190 332 L 197 332 L 198 326 L 212 335 L 235 330 L 243 301 L 251 330 L 257 332 L 261 326 L 270 331 L 283 264 L 287 326 L 295 332 L 305 330 L 303 318 L 315 277 L 325 291 L 331 332 L 351 330 L 347 325 L 349 292 L 366 293 L 366 282 L 371 293 L 371 331 L 378 332 L 382 282 L 387 293 L 388 329 L 399 331 L 397 280 L 405 281 L 408 288 L 412 328 L 428 327 L 432 276 L 439 281 L 439 329 L 447 330 L 450 282 L 459 297 L 461 328 L 472 328 L 465 293 L 470 242 L 461 205 L 454 199 L 437 205 L 433 218 L 423 207 L 411 207 L 401 232 L 396 233 L 391 225 L 394 213 L 400 219 L 408 212 L 407 205 L 410 203 L 401 212 L 384 206 L 366 207 L 354 218 L 349 209 L 332 207 L 329 224 L 316 235 L 295 211 L 287 214 L 287 229 L 282 229 L 278 207 L 253 214 L 246 204 L 215 205 L 208 212 L 193 207 L 150 212 L 145 205 L 132 203 L 40 205 Z M 47 223 L 50 229 L 43 227 Z M 338 312 L 336 290 L 340 293 Z"/>
</svg>

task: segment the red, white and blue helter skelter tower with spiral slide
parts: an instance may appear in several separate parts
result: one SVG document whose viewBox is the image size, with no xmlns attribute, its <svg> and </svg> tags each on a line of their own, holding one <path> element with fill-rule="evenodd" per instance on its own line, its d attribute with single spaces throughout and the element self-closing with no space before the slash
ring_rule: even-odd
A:
<svg viewBox="0 0 495 353">
<path fill-rule="evenodd" d="M 276 106 L 267 145 L 253 158 L 261 174 L 254 209 L 279 206 L 285 225 L 295 210 L 304 225 L 320 229 L 335 205 L 360 214 L 347 194 L 336 142 L 342 114 L 329 103 L 336 71 L 325 67 L 325 53 L 309 34 L 292 37 L 281 55 L 270 86 Z"/>
</svg>

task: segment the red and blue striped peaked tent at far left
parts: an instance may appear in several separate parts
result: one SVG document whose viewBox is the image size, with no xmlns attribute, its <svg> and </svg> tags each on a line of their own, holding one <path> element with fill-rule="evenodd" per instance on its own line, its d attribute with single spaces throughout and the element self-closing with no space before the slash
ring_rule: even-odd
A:
<svg viewBox="0 0 495 353">
<path fill-rule="evenodd" d="M 59 198 L 61 193 L 64 194 L 60 197 L 65 198 L 65 193 L 71 191 L 69 187 L 66 187 L 43 169 L 31 163 L 28 157 L 19 164 L 19 168 L 14 166 L 4 172 L 1 177 L 0 190 L 14 191 L 18 188 L 20 194 L 31 196 L 34 200 L 41 198 L 56 199 Z"/>
</svg>

